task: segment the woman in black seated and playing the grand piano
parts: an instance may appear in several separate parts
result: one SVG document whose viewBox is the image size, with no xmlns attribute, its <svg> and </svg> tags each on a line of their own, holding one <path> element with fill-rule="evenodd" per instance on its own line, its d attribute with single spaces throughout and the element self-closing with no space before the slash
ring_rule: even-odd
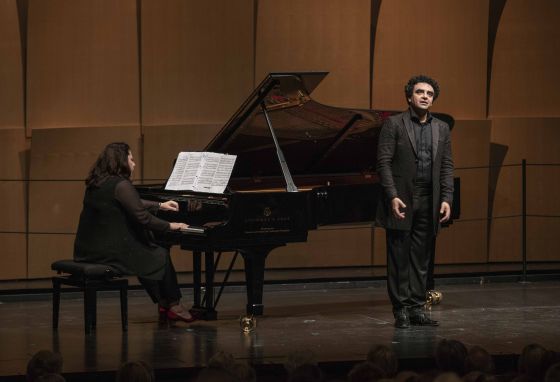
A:
<svg viewBox="0 0 560 382">
<path fill-rule="evenodd" d="M 125 275 L 136 275 L 171 320 L 194 321 L 181 303 L 177 275 L 169 249 L 151 240 L 150 231 L 180 230 L 184 223 L 157 218 L 158 209 L 177 211 L 173 200 L 140 199 L 130 182 L 134 158 L 126 143 L 111 143 L 97 158 L 86 179 L 83 210 L 74 243 L 76 261 L 108 264 Z"/>
</svg>

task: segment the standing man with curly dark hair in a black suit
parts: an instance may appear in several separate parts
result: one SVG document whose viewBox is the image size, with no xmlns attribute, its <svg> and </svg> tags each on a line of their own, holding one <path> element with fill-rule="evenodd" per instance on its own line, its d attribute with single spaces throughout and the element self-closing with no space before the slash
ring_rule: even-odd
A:
<svg viewBox="0 0 560 382">
<path fill-rule="evenodd" d="M 449 126 L 429 112 L 439 86 L 415 76 L 405 86 L 407 111 L 389 117 L 379 136 L 383 186 L 376 221 L 387 235 L 387 289 L 395 326 L 437 326 L 424 312 L 431 245 L 451 215 L 453 160 Z"/>
</svg>

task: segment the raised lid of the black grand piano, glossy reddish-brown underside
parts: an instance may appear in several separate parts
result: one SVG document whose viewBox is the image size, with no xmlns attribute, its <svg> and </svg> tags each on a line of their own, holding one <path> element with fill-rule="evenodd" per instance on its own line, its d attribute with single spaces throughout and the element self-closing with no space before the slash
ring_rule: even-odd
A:
<svg viewBox="0 0 560 382">
<path fill-rule="evenodd" d="M 327 74 L 270 73 L 205 150 L 237 155 L 232 178 L 281 176 L 264 103 L 292 175 L 374 172 L 379 130 L 394 112 L 314 101 Z"/>
</svg>

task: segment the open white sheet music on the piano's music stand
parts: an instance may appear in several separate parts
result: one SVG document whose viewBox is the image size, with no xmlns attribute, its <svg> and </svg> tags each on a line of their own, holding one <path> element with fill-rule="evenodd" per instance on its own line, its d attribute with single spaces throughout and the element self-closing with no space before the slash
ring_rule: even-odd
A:
<svg viewBox="0 0 560 382">
<path fill-rule="evenodd" d="M 236 158 L 236 155 L 211 152 L 180 152 L 165 189 L 221 194 Z"/>
</svg>

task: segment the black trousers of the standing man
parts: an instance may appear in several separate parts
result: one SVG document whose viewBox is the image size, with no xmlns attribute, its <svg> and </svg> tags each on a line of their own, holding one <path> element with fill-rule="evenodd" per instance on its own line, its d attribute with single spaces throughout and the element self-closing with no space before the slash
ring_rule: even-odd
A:
<svg viewBox="0 0 560 382">
<path fill-rule="evenodd" d="M 412 203 L 412 228 L 410 231 L 390 230 L 387 237 L 387 289 L 393 304 L 393 312 L 402 309 L 419 310 L 426 302 L 426 282 L 434 224 L 432 191 L 415 189 Z"/>
</svg>

